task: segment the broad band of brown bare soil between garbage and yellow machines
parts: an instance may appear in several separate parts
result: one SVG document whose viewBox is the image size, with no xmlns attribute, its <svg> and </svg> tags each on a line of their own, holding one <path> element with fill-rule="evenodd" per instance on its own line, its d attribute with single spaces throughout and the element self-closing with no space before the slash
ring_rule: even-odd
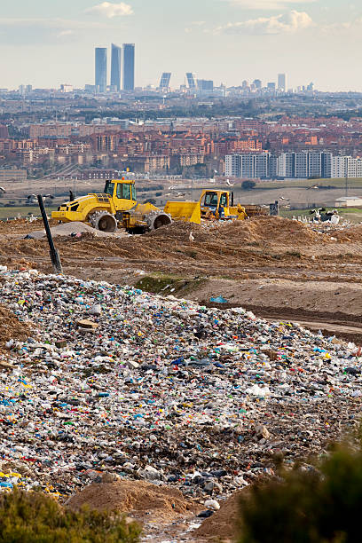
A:
<svg viewBox="0 0 362 543">
<path fill-rule="evenodd" d="M 0 264 L 52 271 L 47 240 L 23 239 L 40 229 L 39 222 L 25 220 L 0 224 Z M 147 278 L 153 283 L 159 278 L 164 294 L 204 304 L 222 295 L 224 307 L 321 323 L 332 326 L 330 333 L 338 325 L 342 337 L 362 342 L 361 224 L 316 227 L 256 217 L 201 226 L 174 223 L 144 236 L 98 238 L 85 232 L 55 242 L 64 271 L 83 279 L 157 291 Z"/>
</svg>

